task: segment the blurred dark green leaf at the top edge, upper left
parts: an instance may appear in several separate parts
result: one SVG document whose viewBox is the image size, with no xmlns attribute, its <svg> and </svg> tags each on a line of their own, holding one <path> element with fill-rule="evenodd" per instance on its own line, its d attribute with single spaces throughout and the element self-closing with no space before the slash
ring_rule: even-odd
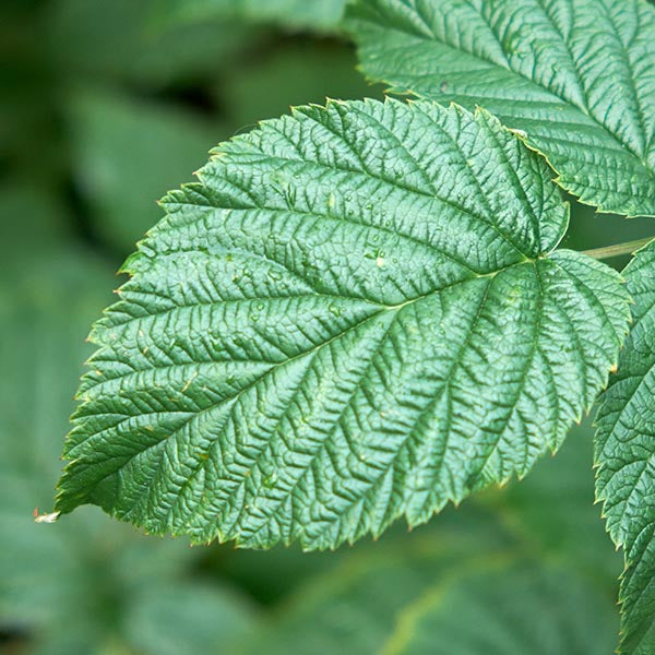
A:
<svg viewBox="0 0 655 655">
<path fill-rule="evenodd" d="M 263 36 L 263 29 L 227 12 L 204 21 L 164 21 L 168 1 L 50 3 L 43 15 L 50 66 L 90 83 L 102 76 L 157 88 L 215 76 Z"/>
</svg>

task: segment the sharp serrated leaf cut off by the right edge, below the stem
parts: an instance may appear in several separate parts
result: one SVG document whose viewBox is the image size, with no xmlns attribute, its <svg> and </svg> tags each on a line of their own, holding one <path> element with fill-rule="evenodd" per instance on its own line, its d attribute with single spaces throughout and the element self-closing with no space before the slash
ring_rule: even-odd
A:
<svg viewBox="0 0 655 655">
<path fill-rule="evenodd" d="M 655 242 L 624 272 L 634 324 L 598 412 L 596 496 L 622 546 L 622 651 L 655 651 Z"/>
</svg>

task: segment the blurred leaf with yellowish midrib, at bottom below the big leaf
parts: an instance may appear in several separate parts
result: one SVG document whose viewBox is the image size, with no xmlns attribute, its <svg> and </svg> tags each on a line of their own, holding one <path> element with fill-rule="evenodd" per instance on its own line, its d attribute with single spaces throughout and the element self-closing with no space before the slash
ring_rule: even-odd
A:
<svg viewBox="0 0 655 655">
<path fill-rule="evenodd" d="M 618 622 L 611 591 L 552 556 L 493 514 L 446 512 L 439 526 L 365 546 L 305 584 L 246 653 L 608 651 Z"/>
</svg>

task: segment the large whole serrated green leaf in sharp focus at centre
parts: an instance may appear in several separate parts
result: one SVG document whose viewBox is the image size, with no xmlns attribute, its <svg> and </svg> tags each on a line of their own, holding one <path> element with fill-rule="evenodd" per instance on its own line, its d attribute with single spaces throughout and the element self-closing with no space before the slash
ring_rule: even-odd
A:
<svg viewBox="0 0 655 655">
<path fill-rule="evenodd" d="M 619 276 L 559 250 L 485 111 L 302 107 L 223 144 L 96 324 L 57 509 L 334 547 L 523 476 L 616 364 Z"/>
</svg>

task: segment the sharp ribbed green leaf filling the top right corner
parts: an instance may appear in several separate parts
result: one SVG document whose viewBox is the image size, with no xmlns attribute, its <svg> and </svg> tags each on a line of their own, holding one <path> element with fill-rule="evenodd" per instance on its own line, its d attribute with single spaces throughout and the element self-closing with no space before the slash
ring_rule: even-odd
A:
<svg viewBox="0 0 655 655">
<path fill-rule="evenodd" d="M 605 212 L 655 215 L 655 9 L 645 0 L 356 0 L 364 70 L 480 105 Z"/>
</svg>

